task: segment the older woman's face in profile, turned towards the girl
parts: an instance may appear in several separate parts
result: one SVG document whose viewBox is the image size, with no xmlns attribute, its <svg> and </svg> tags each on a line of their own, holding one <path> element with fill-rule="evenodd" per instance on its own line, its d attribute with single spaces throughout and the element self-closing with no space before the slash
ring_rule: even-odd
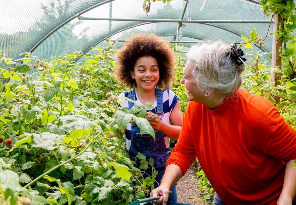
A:
<svg viewBox="0 0 296 205">
<path fill-rule="evenodd" d="M 184 76 L 181 79 L 181 83 L 185 84 L 187 89 L 187 100 L 195 101 L 198 103 L 204 103 L 205 96 L 204 93 L 201 93 L 197 89 L 196 80 L 192 75 L 193 67 L 190 65 L 189 60 L 187 60 L 186 65 L 184 67 Z"/>
</svg>

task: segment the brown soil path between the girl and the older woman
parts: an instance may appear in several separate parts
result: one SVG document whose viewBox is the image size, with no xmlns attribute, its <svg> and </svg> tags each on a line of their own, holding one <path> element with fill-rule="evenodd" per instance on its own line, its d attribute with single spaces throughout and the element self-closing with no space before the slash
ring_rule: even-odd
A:
<svg viewBox="0 0 296 205">
<path fill-rule="evenodd" d="M 196 173 L 196 168 L 191 166 L 190 169 L 187 170 L 186 174 L 177 182 L 177 196 L 179 203 L 193 205 L 209 204 L 207 202 L 199 202 L 199 200 L 203 198 L 203 195 L 199 189 Z"/>
</svg>

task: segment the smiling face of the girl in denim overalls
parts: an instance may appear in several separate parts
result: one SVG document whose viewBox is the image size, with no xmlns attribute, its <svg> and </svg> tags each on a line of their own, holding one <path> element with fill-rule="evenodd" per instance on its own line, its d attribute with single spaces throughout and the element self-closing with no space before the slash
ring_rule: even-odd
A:
<svg viewBox="0 0 296 205">
<path fill-rule="evenodd" d="M 135 63 L 134 70 L 130 72 L 136 80 L 137 89 L 151 90 L 159 80 L 157 60 L 152 56 L 142 56 Z"/>
</svg>

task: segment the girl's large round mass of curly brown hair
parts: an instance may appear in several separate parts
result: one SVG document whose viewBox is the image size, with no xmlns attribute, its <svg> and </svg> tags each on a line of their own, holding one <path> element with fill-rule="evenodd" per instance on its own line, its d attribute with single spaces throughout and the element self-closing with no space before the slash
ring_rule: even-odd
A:
<svg viewBox="0 0 296 205">
<path fill-rule="evenodd" d="M 169 43 L 160 41 L 155 34 L 139 34 L 126 41 L 117 52 L 117 64 L 114 75 L 116 80 L 128 87 L 136 88 L 136 80 L 130 72 L 134 70 L 136 61 L 142 56 L 152 56 L 157 60 L 160 78 L 156 87 L 170 85 L 175 78 L 175 58 Z"/>
</svg>

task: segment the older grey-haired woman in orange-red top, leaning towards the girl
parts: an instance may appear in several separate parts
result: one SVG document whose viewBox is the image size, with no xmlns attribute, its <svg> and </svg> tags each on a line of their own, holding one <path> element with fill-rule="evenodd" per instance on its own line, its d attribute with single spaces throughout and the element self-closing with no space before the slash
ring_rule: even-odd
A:
<svg viewBox="0 0 296 205">
<path fill-rule="evenodd" d="M 216 191 L 215 204 L 292 204 L 296 132 L 264 97 L 240 88 L 245 59 L 236 45 L 205 42 L 188 52 L 181 83 L 190 101 L 158 188 L 170 187 L 198 158 Z"/>
</svg>

